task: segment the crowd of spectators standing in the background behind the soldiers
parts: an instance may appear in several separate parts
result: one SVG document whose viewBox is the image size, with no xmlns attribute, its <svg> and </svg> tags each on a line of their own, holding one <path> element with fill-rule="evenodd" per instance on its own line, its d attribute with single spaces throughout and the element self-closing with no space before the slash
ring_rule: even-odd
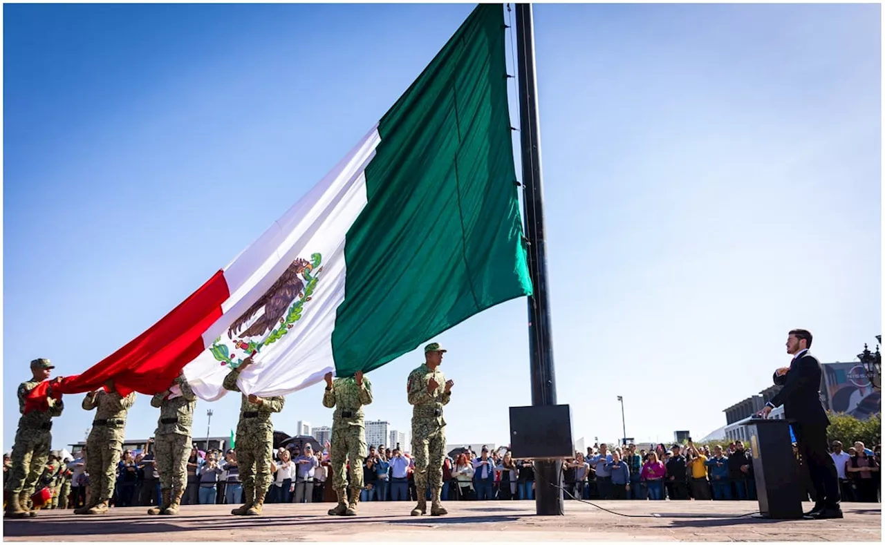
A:
<svg viewBox="0 0 885 545">
<path fill-rule="evenodd" d="M 134 455 L 125 450 L 117 467 L 113 503 L 119 507 L 158 505 L 159 477 L 153 453 L 148 449 Z M 443 501 L 531 500 L 535 497 L 535 470 L 531 460 L 513 459 L 507 449 L 479 452 L 467 446 L 443 460 Z M 50 455 L 41 477 L 51 491 L 45 508 L 77 508 L 88 501 L 89 473 L 85 452 L 61 460 Z M 839 474 L 843 501 L 877 502 L 880 490 L 881 446 L 868 449 L 857 441 L 843 450 L 834 441 L 832 452 Z M 802 466 L 801 457 L 797 458 Z M 370 446 L 362 461 L 362 502 L 416 501 L 414 459 L 401 449 Z M 274 453 L 273 482 L 266 503 L 335 502 L 326 486 L 330 462 L 327 452 L 310 442 L 288 445 Z M 605 443 L 587 453 L 577 452 L 563 460 L 562 490 L 566 499 L 584 500 L 756 500 L 752 453 L 742 441 L 727 446 L 696 447 L 658 444 L 637 449 L 631 443 L 610 449 Z M 9 457 L 4 457 L 4 478 Z M 188 460 L 188 485 L 182 504 L 238 504 L 242 501 L 236 450 L 193 446 Z M 350 464 L 348 464 L 350 479 Z M 804 481 L 805 498 L 815 500 L 809 480 Z"/>
</svg>

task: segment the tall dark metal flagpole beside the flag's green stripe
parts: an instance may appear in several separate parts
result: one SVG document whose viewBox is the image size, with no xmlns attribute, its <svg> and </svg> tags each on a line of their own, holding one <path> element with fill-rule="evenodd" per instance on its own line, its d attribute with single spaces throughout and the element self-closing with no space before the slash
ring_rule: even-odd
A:
<svg viewBox="0 0 885 545">
<path fill-rule="evenodd" d="M 523 207 L 528 242 L 528 270 L 534 295 L 528 298 L 528 346 L 532 405 L 555 405 L 556 373 L 547 298 L 547 256 L 544 239 L 541 137 L 535 81 L 535 28 L 531 4 L 516 4 L 516 61 L 519 67 L 519 137 L 522 157 Z M 555 486 L 554 486 L 555 485 Z M 538 515 L 562 515 L 562 461 L 535 461 L 535 510 Z"/>
</svg>

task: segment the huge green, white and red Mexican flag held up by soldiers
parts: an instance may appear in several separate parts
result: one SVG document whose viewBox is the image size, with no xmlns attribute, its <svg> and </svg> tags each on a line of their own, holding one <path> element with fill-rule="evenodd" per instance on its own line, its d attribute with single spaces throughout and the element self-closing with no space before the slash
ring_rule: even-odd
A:
<svg viewBox="0 0 885 545">
<path fill-rule="evenodd" d="M 81 375 L 214 400 L 371 371 L 532 293 L 500 4 L 479 5 L 396 104 L 300 201 L 135 341 Z M 93 374 L 90 372 L 96 371 Z M 67 388 L 65 388 L 67 389 Z"/>
</svg>

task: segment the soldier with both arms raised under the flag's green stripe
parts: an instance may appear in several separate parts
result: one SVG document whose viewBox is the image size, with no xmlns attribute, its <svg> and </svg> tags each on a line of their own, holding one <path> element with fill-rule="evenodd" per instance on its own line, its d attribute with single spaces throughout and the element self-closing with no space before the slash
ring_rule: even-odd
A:
<svg viewBox="0 0 885 545">
<path fill-rule="evenodd" d="M 323 406 L 332 409 L 332 442 L 329 457 L 332 462 L 332 487 L 338 496 L 338 505 L 329 510 L 330 515 L 357 514 L 359 493 L 363 489 L 363 460 L 366 458 L 366 426 L 363 422 L 363 405 L 372 403 L 372 383 L 358 371 L 352 377 L 332 381 L 327 372 L 326 392 Z M 350 458 L 350 503 L 344 488 L 347 459 Z"/>
</svg>

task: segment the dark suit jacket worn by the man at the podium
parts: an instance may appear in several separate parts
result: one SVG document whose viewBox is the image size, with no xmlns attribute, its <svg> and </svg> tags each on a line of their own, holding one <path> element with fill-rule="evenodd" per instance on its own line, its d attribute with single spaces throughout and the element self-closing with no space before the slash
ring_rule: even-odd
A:
<svg viewBox="0 0 885 545">
<path fill-rule="evenodd" d="M 784 418 L 798 424 L 829 426 L 827 411 L 820 403 L 820 362 L 811 352 L 795 358 L 789 365 L 789 372 L 779 377 L 774 372 L 774 384 L 783 386 L 771 403 L 783 405 Z"/>
</svg>

